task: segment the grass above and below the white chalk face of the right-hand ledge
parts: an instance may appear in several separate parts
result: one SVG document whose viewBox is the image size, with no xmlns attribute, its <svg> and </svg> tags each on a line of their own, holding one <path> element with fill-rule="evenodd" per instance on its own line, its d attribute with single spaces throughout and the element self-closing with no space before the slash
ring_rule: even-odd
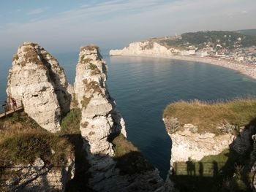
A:
<svg viewBox="0 0 256 192">
<path fill-rule="evenodd" d="M 178 101 L 167 106 L 163 116 L 166 122 L 172 120 L 173 124 L 170 126 L 174 129 L 181 129 L 184 124 L 192 123 L 197 126 L 199 133 L 243 134 L 239 132 L 239 127 L 248 128 L 256 125 L 256 100 L 236 99 L 215 103 L 197 100 Z M 239 135 L 237 138 L 239 139 Z M 179 191 L 199 192 L 205 191 L 206 188 L 207 191 L 213 192 L 251 191 L 250 171 L 255 163 L 256 153 L 252 146 L 247 149 L 248 151 L 244 150 L 243 154 L 233 150 L 233 144 L 230 146 L 230 149 L 218 155 L 208 155 L 200 161 L 174 163 L 175 174 L 170 177 L 176 188 Z"/>
</svg>

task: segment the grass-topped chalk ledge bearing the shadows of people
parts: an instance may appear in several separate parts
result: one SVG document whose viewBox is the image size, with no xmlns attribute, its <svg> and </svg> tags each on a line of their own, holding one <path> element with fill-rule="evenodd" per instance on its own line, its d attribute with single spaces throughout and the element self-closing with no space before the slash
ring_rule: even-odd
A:
<svg viewBox="0 0 256 192">
<path fill-rule="evenodd" d="M 196 100 L 166 107 L 163 121 L 172 140 L 169 178 L 178 189 L 188 190 L 191 180 L 197 191 L 205 185 L 212 185 L 209 191 L 251 188 L 255 104 L 255 99 L 214 104 Z"/>
</svg>

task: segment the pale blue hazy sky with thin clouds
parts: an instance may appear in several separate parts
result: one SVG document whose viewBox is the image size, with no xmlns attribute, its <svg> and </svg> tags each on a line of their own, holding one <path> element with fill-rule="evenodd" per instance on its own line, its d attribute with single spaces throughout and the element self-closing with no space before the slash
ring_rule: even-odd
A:
<svg viewBox="0 0 256 192">
<path fill-rule="evenodd" d="M 53 53 L 121 48 L 189 31 L 256 28 L 255 0 L 8 0 L 0 6 L 0 57 L 23 42 Z"/>
</svg>

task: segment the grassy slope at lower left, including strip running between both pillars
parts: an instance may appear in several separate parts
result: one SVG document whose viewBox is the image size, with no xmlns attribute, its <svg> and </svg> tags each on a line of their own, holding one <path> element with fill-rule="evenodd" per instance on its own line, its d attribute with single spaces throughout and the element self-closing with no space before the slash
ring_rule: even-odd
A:
<svg viewBox="0 0 256 192">
<path fill-rule="evenodd" d="M 75 153 L 75 177 L 67 183 L 66 191 L 90 191 L 87 173 L 89 169 L 83 138 L 80 134 L 80 110 L 73 109 L 61 120 L 61 131 L 51 134 L 41 128 L 25 112 L 0 120 L 0 180 L 4 182 L 10 167 L 31 164 L 39 157 L 49 169 L 62 166 Z M 0 191 L 1 188 L 0 182 Z"/>
</svg>

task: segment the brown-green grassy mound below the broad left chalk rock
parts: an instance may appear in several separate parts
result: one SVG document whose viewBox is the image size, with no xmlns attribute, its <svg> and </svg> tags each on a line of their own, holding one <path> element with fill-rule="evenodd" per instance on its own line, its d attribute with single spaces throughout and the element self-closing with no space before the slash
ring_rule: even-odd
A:
<svg viewBox="0 0 256 192">
<path fill-rule="evenodd" d="M 31 164 L 37 157 L 57 166 L 72 154 L 66 138 L 43 130 L 24 112 L 1 120 L 0 129 L 0 166 Z"/>
</svg>

